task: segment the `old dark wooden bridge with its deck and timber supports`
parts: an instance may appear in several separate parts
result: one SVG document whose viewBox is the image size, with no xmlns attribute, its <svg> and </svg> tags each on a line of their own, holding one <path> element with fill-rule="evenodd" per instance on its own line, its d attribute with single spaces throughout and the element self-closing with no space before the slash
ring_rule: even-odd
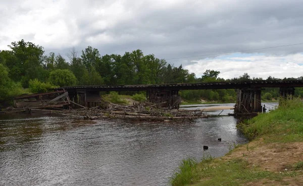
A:
<svg viewBox="0 0 303 186">
<path fill-rule="evenodd" d="M 236 89 L 235 114 L 262 112 L 261 90 L 266 87 L 280 88 L 281 97 L 294 95 L 295 87 L 303 87 L 303 80 L 247 80 L 207 83 L 137 84 L 137 85 L 89 85 L 65 86 L 69 97 L 79 105 L 94 107 L 100 104 L 100 91 L 146 91 L 146 99 L 164 103 L 165 107 L 179 107 L 179 90 Z"/>
</svg>

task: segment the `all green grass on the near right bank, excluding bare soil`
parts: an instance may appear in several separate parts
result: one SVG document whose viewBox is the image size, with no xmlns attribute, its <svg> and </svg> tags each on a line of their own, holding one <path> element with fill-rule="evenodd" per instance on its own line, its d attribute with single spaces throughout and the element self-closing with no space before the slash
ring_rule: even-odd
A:
<svg viewBox="0 0 303 186">
<path fill-rule="evenodd" d="M 303 141 L 303 103 L 298 100 L 281 101 L 279 108 L 267 114 L 259 114 L 257 117 L 238 124 L 238 128 L 250 140 L 264 141 L 265 144 L 285 144 Z M 286 146 L 288 144 L 285 144 Z M 239 156 L 230 158 L 213 158 L 204 156 L 200 162 L 194 162 L 192 166 L 187 158 L 182 161 L 179 169 L 171 178 L 172 185 L 260 185 L 267 183 L 274 185 L 289 184 L 291 180 L 297 181 L 302 176 L 303 161 L 298 161 L 292 165 L 291 170 L 269 171 L 261 168 L 260 165 L 248 163 L 247 151 L 258 150 L 245 144 L 239 147 L 236 144 L 229 144 L 228 154 L 238 153 Z M 234 148 L 233 150 L 232 147 Z M 240 153 L 239 153 L 240 152 Z M 291 166 L 291 165 L 290 165 Z"/>
</svg>

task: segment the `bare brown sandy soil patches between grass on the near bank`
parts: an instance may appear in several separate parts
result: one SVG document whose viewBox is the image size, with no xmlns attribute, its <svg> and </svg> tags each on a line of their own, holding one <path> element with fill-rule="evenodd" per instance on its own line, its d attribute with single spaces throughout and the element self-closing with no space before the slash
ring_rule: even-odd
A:
<svg viewBox="0 0 303 186">
<path fill-rule="evenodd" d="M 276 173 L 293 171 L 293 165 L 303 161 L 303 142 L 293 143 L 264 143 L 263 138 L 252 141 L 247 146 L 242 145 L 222 159 L 241 158 L 248 161 L 252 167 Z M 297 176 L 284 177 L 282 180 L 261 179 L 245 183 L 245 185 L 303 185 L 303 170 L 296 170 Z"/>
</svg>

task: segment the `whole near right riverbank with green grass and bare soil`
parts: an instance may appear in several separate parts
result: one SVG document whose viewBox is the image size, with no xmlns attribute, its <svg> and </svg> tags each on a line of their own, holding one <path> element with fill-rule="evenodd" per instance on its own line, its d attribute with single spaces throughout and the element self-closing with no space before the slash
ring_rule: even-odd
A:
<svg viewBox="0 0 303 186">
<path fill-rule="evenodd" d="M 303 185 L 303 103 L 284 101 L 239 124 L 250 139 L 220 158 L 187 158 L 172 185 Z"/>
</svg>

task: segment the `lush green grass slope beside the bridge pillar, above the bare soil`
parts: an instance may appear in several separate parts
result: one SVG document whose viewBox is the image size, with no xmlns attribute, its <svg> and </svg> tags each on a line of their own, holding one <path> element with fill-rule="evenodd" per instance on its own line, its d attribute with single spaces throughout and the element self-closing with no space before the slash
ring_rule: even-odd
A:
<svg viewBox="0 0 303 186">
<path fill-rule="evenodd" d="M 259 114 L 239 124 L 249 139 L 266 136 L 268 142 L 303 141 L 303 103 L 299 99 L 282 101 L 279 108 Z"/>
</svg>

